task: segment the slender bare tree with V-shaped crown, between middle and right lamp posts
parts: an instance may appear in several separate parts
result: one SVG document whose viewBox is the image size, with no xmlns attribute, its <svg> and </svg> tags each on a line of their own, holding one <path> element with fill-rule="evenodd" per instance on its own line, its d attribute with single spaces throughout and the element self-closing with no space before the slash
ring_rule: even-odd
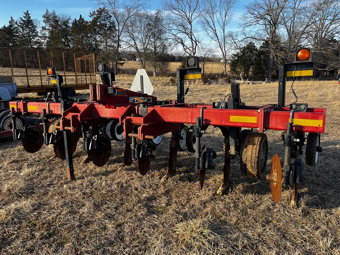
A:
<svg viewBox="0 0 340 255">
<path fill-rule="evenodd" d="M 205 0 L 200 4 L 200 24 L 205 34 L 217 43 L 224 60 L 224 75 L 227 74 L 227 25 L 234 15 L 236 0 Z"/>
</svg>

